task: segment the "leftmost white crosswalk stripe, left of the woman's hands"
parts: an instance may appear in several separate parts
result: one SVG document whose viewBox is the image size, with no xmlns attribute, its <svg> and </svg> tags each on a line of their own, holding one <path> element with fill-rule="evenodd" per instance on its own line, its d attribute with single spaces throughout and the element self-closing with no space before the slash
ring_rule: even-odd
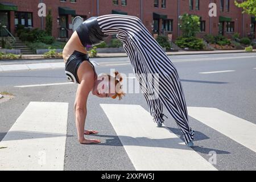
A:
<svg viewBox="0 0 256 182">
<path fill-rule="evenodd" d="M 30 102 L 0 142 L 2 170 L 63 170 L 68 103 Z"/>
</svg>

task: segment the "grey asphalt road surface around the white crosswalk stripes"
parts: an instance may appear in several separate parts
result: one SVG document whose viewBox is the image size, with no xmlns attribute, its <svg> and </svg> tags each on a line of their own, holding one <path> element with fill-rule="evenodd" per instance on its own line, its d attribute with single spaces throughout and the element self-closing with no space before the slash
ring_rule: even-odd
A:
<svg viewBox="0 0 256 182">
<path fill-rule="evenodd" d="M 96 67 L 97 73 L 110 73 L 110 69 L 126 75 L 133 73 L 127 57 L 92 60 L 101 65 Z M 214 107 L 256 124 L 256 53 L 171 56 L 171 60 L 179 72 L 187 106 Z M 0 104 L 0 140 L 31 101 L 68 102 L 64 169 L 134 170 L 129 155 L 100 104 L 141 105 L 148 110 L 143 95 L 126 94 L 122 101 L 90 96 L 86 129 L 94 129 L 100 133 L 88 138 L 101 139 L 101 144 L 85 146 L 79 144 L 76 137 L 73 114 L 76 84 L 14 87 L 60 82 L 67 82 L 63 69 L 0 72 L 0 91 L 7 91 L 15 96 L 13 100 Z M 174 119 L 166 110 L 164 113 L 168 117 L 164 124 L 173 133 L 180 135 Z M 253 150 L 195 118 L 189 117 L 189 122 L 196 131 L 193 150 L 205 160 L 209 160 L 210 151 L 216 151 L 217 163 L 214 167 L 218 170 L 256 170 L 256 154 Z M 252 143 L 255 141 L 256 138 L 251 138 Z"/>
</svg>

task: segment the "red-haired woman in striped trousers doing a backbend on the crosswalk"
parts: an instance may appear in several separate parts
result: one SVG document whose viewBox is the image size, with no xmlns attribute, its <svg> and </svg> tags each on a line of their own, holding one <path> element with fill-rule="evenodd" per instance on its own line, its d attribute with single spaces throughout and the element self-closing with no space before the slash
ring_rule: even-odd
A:
<svg viewBox="0 0 256 182">
<path fill-rule="evenodd" d="M 185 144 L 192 147 L 194 131 L 189 127 L 183 87 L 174 64 L 139 18 L 117 14 L 93 16 L 85 20 L 73 32 L 63 50 L 67 78 L 79 84 L 75 100 L 79 142 L 82 144 L 100 142 L 97 139 L 84 138 L 84 134 L 97 133 L 93 130 L 84 130 L 89 92 L 92 91 L 92 94 L 98 97 L 116 98 L 118 96 L 119 100 L 123 96 L 121 89 L 117 89 L 119 88 L 117 85 L 122 81 L 120 74 L 115 72 L 115 78 L 110 75 L 97 76 L 85 50 L 87 45 L 100 44 L 111 34 L 117 34 L 117 38 L 123 43 L 150 114 L 154 118 L 153 121 L 158 124 L 158 127 L 162 126 L 165 116 L 163 106 L 166 107 L 183 134 Z M 152 98 L 152 88 L 148 87 L 147 75 L 155 74 L 159 77 L 158 90 L 155 90 L 158 94 L 157 97 Z M 115 86 L 114 92 L 110 91 L 111 83 Z"/>
</svg>

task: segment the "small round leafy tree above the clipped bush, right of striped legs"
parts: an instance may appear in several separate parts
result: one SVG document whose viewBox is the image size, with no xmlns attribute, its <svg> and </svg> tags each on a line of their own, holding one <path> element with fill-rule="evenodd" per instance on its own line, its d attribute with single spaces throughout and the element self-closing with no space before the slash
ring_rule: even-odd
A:
<svg viewBox="0 0 256 182">
<path fill-rule="evenodd" d="M 189 38 L 195 36 L 200 31 L 200 18 L 197 15 L 183 14 L 179 16 L 179 27 L 182 31 L 182 36 Z"/>
</svg>

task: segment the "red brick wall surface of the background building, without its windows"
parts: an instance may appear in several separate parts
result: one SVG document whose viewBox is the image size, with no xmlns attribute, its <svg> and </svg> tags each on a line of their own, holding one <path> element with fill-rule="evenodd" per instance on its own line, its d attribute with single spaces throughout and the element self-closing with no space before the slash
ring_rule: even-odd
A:
<svg viewBox="0 0 256 182">
<path fill-rule="evenodd" d="M 7 1 L 7 0 L 6 0 Z M 228 16 L 232 18 L 234 21 L 234 32 L 240 32 L 240 35 L 246 36 L 250 32 L 250 22 L 251 19 L 249 15 L 245 16 L 245 23 L 243 26 L 243 15 L 241 9 L 234 5 L 234 1 L 230 0 L 230 10 L 229 12 L 225 9 L 225 1 L 224 1 L 224 12 L 220 11 L 220 0 L 201 0 L 200 1 L 200 10 L 195 10 L 195 2 L 194 0 L 194 9 L 189 10 L 189 0 L 167 0 L 166 1 L 166 9 L 162 9 L 161 1 L 159 1 L 159 7 L 154 7 L 154 0 L 142 0 L 143 1 L 143 9 L 141 16 L 141 0 L 127 0 L 127 6 L 121 5 L 121 0 L 119 0 L 119 5 L 113 5 L 112 0 L 100 0 L 100 8 L 99 15 L 111 14 L 112 10 L 121 10 L 128 13 L 128 15 L 138 16 L 142 18 L 142 22 L 147 27 L 148 31 L 152 32 L 152 21 L 153 12 L 159 14 L 166 14 L 168 19 L 173 19 L 173 38 L 177 38 L 178 35 L 178 17 L 177 17 L 177 2 L 180 1 L 180 15 L 184 13 L 195 14 L 202 17 L 202 20 L 205 20 L 205 32 L 200 32 L 198 34 L 199 37 L 204 36 L 205 34 L 209 34 L 210 30 L 213 35 L 218 35 L 218 23 L 219 16 Z M 38 3 L 39 0 L 8 0 L 7 2 L 12 2 L 18 6 L 18 11 L 27 11 L 33 13 L 33 26 L 41 27 L 40 18 L 38 16 Z M 67 2 L 60 2 L 59 0 L 43 0 L 46 3 L 47 10 L 49 8 L 52 9 L 53 15 L 53 31 L 52 35 L 57 38 L 58 36 L 58 23 L 57 18 L 59 16 L 58 7 L 71 7 L 76 10 L 77 15 L 86 15 L 87 18 L 90 16 L 97 16 L 97 0 L 77 0 L 76 3 L 71 3 L 69 0 Z M 217 3 L 217 17 L 212 17 L 212 24 L 210 24 L 210 18 L 208 15 L 208 5 L 210 2 Z M 14 13 L 10 13 L 10 22 L 11 22 L 11 31 L 14 31 Z M 44 27 L 46 23 L 46 18 L 44 19 Z M 71 16 L 68 16 L 68 23 L 71 23 Z M 161 24 L 160 24 L 161 28 Z M 226 28 L 224 28 L 224 35 L 229 38 L 232 37 L 233 33 L 226 32 Z M 181 32 L 180 32 L 181 33 Z M 72 31 L 69 32 L 69 36 L 71 36 Z M 181 34 L 180 34 L 181 35 Z"/>
</svg>

